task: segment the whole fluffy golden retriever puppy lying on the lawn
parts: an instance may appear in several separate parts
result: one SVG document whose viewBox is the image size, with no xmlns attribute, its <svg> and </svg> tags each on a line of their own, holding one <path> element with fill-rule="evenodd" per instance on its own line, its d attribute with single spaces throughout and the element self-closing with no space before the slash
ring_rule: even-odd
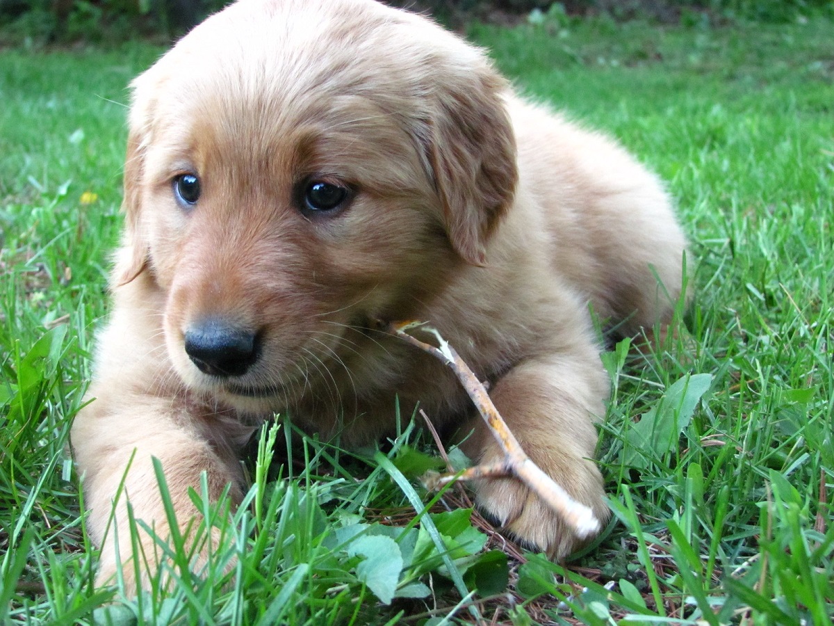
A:
<svg viewBox="0 0 834 626">
<path fill-rule="evenodd" d="M 669 321 L 686 242 L 654 175 L 480 50 L 373 0 L 241 0 L 134 81 L 124 210 L 72 432 L 100 583 L 132 556 L 126 499 L 168 534 L 152 457 L 184 525 L 200 472 L 240 497 L 240 447 L 276 412 L 350 445 L 420 402 L 500 457 L 450 371 L 378 321 L 438 328 L 530 457 L 607 517 L 588 305 L 625 333 Z M 554 558 L 578 543 L 519 483 L 477 502 Z"/>
</svg>

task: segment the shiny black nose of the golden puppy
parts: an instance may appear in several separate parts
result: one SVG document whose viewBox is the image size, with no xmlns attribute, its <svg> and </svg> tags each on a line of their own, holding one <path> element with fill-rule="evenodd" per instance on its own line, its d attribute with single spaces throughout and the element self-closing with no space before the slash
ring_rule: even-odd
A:
<svg viewBox="0 0 834 626">
<path fill-rule="evenodd" d="M 185 351 L 203 374 L 243 376 L 258 360 L 259 341 L 253 331 L 213 317 L 185 331 Z"/>
</svg>

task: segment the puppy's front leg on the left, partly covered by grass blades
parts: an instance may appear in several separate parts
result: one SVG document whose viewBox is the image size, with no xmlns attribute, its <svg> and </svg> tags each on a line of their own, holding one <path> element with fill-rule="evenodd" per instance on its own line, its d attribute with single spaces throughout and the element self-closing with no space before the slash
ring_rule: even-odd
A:
<svg viewBox="0 0 834 626">
<path fill-rule="evenodd" d="M 133 516 L 153 528 L 158 538 L 168 541 L 171 531 L 152 457 L 162 462 L 181 530 L 192 520 L 196 528 L 198 522 L 188 488 L 199 489 L 200 472 L 208 474 L 208 496 L 213 501 L 229 482 L 233 499 L 239 501 L 243 477 L 231 448 L 206 437 L 207 429 L 222 430 L 199 422 L 208 420 L 208 416 L 192 415 L 186 406 L 177 406 L 181 402 L 173 398 L 140 394 L 114 397 L 103 387 L 91 391 L 97 399 L 79 413 L 73 424 L 73 455 L 83 478 L 88 531 L 101 548 L 96 582 L 98 586 L 114 583 L 121 563 L 125 589 L 136 593 L 134 589 L 150 587 L 163 563 L 163 550 L 140 528 L 134 553 L 127 502 Z M 216 542 L 217 529 L 211 533 L 210 541 Z M 203 548 L 192 563 L 195 570 L 205 563 L 206 556 Z"/>
</svg>

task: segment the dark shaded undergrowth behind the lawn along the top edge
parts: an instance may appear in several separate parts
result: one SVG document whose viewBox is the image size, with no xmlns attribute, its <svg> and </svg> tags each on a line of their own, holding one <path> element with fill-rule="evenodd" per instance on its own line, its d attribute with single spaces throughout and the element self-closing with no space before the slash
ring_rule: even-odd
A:
<svg viewBox="0 0 834 626">
<path fill-rule="evenodd" d="M 169 43 L 227 4 L 227 0 L 0 0 L 0 45 L 122 43 L 135 38 Z M 792 21 L 803 12 L 834 12 L 832 0 L 388 0 L 432 13 L 462 29 L 471 20 L 517 23 L 530 12 L 570 16 L 605 14 L 616 20 L 677 23 L 732 20 Z"/>
</svg>

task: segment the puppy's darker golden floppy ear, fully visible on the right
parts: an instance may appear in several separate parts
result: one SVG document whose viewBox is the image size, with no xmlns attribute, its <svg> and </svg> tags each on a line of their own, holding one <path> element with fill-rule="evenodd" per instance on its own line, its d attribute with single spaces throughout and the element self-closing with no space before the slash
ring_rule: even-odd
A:
<svg viewBox="0 0 834 626">
<path fill-rule="evenodd" d="M 515 135 L 502 98 L 506 84 L 485 60 L 481 64 L 445 77 L 428 152 L 446 232 L 473 265 L 486 264 L 486 240 L 512 203 L 518 180 Z"/>
</svg>

